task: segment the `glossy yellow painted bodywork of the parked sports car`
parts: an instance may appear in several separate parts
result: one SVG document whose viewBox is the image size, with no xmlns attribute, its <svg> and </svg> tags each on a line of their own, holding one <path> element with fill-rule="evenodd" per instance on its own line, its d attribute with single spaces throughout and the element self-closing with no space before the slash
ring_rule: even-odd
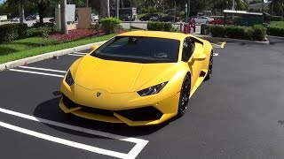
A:
<svg viewBox="0 0 284 159">
<path fill-rule="evenodd" d="M 85 112 L 80 107 L 68 109 L 61 101 L 59 107 L 66 113 L 79 117 L 110 123 L 127 125 L 158 125 L 177 115 L 177 108 L 185 74 L 190 74 L 191 95 L 201 85 L 208 73 L 209 57 L 212 46 L 208 41 L 188 34 L 135 31 L 119 36 L 147 36 L 170 38 L 180 41 L 178 62 L 167 64 L 138 64 L 130 62 L 104 60 L 84 56 L 70 67 L 75 84 L 71 87 L 65 82 L 61 84 L 61 92 L 73 102 L 101 110 L 129 110 L 152 106 L 162 112 L 162 117 L 153 121 L 131 121 L 114 113 L 114 117 L 106 117 Z M 196 39 L 193 56 L 187 62 L 181 60 L 183 42 L 186 37 Z M 200 76 L 204 72 L 204 76 Z M 140 96 L 138 91 L 168 82 L 156 95 Z M 97 97 L 97 93 L 100 93 Z M 146 115 L 145 115 L 146 116 Z"/>
</svg>

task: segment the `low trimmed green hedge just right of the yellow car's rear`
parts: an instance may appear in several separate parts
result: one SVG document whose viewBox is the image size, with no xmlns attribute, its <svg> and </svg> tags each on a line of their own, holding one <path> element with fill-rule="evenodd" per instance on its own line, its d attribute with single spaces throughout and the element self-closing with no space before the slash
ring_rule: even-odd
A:
<svg viewBox="0 0 284 159">
<path fill-rule="evenodd" d="M 266 35 L 265 27 L 255 25 L 253 27 L 236 26 L 210 26 L 209 32 L 213 37 L 224 37 L 233 39 L 244 39 L 262 41 Z"/>
</svg>

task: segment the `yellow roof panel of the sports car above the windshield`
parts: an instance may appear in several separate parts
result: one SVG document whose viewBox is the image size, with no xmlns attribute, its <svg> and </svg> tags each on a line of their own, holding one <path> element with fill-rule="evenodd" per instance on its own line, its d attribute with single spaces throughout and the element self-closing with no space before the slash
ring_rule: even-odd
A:
<svg viewBox="0 0 284 159">
<path fill-rule="evenodd" d="M 119 34 L 118 36 L 144 36 L 144 37 L 157 37 L 157 38 L 183 41 L 185 37 L 188 36 L 188 34 L 162 32 L 162 31 L 132 31 L 132 32 Z"/>
</svg>

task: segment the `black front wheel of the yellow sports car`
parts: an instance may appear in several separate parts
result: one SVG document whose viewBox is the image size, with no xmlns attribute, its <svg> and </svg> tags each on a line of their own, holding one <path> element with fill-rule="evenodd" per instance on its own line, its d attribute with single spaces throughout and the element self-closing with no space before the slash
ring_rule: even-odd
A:
<svg viewBox="0 0 284 159">
<path fill-rule="evenodd" d="M 191 79 L 186 74 L 185 79 L 183 81 L 183 85 L 180 90 L 177 117 L 182 117 L 185 115 L 185 112 L 187 110 L 187 105 L 189 102 L 190 89 L 191 89 Z"/>
</svg>

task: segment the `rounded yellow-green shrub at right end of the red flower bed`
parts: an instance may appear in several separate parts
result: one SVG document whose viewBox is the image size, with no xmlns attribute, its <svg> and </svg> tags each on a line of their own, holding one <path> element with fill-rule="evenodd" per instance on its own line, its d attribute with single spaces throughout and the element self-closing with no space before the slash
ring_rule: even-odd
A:
<svg viewBox="0 0 284 159">
<path fill-rule="evenodd" d="M 121 20 L 116 18 L 106 18 L 106 19 L 100 19 L 99 23 L 101 24 L 102 30 L 106 34 L 114 34 L 115 30 L 121 23 Z"/>
</svg>

